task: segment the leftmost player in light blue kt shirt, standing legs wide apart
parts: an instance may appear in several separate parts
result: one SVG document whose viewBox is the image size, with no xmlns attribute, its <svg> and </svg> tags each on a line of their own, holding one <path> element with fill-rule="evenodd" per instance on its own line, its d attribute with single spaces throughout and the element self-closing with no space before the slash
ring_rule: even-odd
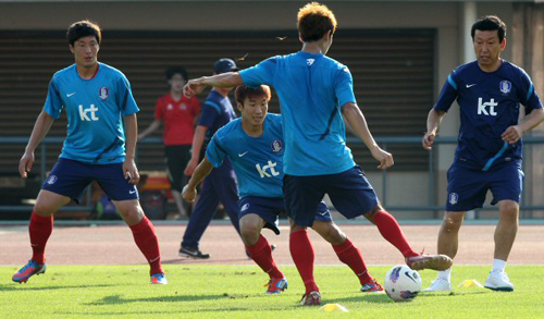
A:
<svg viewBox="0 0 544 319">
<path fill-rule="evenodd" d="M 138 203 L 139 174 L 134 163 L 138 107 L 123 73 L 97 61 L 100 27 L 89 21 L 70 25 L 67 41 L 75 63 L 57 72 L 49 83 L 44 110 L 34 125 L 18 171 L 26 177 L 34 150 L 47 135 L 62 109 L 69 121 L 59 160 L 44 183 L 34 206 L 28 231 L 33 256 L 13 275 L 26 282 L 46 272 L 46 244 L 53 229 L 53 214 L 95 180 L 112 199 L 131 228 L 136 245 L 151 266 L 151 283 L 166 284 L 154 228 Z"/>
</svg>

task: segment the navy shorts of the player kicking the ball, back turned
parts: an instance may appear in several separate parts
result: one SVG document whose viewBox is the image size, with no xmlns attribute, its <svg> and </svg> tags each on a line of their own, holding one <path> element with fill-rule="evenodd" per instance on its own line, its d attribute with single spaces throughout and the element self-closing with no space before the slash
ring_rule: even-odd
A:
<svg viewBox="0 0 544 319">
<path fill-rule="evenodd" d="M 319 203 L 329 194 L 339 213 L 359 217 L 378 206 L 378 196 L 361 168 L 329 175 L 294 176 L 285 174 L 283 194 L 287 213 L 299 226 L 311 226 Z"/>
</svg>

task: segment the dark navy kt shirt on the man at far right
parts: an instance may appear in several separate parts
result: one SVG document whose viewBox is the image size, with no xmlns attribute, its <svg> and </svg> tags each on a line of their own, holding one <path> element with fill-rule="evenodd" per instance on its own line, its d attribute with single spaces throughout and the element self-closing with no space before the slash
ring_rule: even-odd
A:
<svg viewBox="0 0 544 319">
<path fill-rule="evenodd" d="M 505 60 L 491 73 L 483 72 L 478 61 L 460 65 L 449 74 L 434 109 L 447 112 L 456 99 L 461 116 L 456 163 L 487 171 L 521 160 L 522 140 L 509 145 L 500 137 L 518 124 L 520 103 L 526 114 L 542 108 L 531 78 L 521 68 Z"/>
</svg>

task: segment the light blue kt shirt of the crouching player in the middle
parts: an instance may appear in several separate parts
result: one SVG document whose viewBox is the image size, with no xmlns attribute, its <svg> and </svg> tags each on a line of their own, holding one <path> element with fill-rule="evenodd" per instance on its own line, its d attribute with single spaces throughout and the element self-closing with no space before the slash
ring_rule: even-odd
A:
<svg viewBox="0 0 544 319">
<path fill-rule="evenodd" d="M 282 116 L 271 113 L 264 119 L 261 136 L 247 135 L 237 119 L 215 133 L 206 151 L 215 168 L 230 158 L 240 198 L 283 197 L 283 155 Z"/>
</svg>

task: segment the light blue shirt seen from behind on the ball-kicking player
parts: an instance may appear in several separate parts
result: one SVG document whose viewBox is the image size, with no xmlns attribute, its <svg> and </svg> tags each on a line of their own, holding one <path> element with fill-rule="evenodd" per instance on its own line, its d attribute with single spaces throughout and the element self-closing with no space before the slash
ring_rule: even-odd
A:
<svg viewBox="0 0 544 319">
<path fill-rule="evenodd" d="M 355 165 L 341 113 L 342 106 L 356 102 L 347 66 L 321 53 L 299 51 L 239 74 L 246 86 L 272 85 L 280 97 L 286 174 L 336 174 Z"/>
</svg>

